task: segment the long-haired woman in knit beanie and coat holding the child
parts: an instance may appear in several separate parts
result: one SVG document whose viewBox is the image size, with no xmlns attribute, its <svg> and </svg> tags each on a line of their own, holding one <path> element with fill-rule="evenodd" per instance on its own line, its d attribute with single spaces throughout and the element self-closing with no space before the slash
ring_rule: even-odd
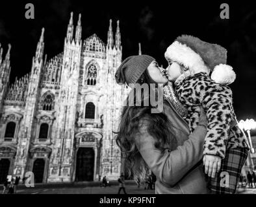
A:
<svg viewBox="0 0 256 207">
<path fill-rule="evenodd" d="M 116 82 L 151 85 L 168 80 L 154 58 L 142 55 L 122 62 Z M 136 91 L 133 94 L 136 97 Z M 162 113 L 151 114 L 153 104 L 143 106 L 143 93 L 140 98 L 141 107 L 123 107 L 116 138 L 126 155 L 126 170 L 142 180 L 150 169 L 157 177 L 155 193 L 208 193 L 201 163 L 207 132 L 205 113 L 201 111 L 199 125 L 189 135 L 188 125 L 170 100 L 164 100 Z"/>
</svg>

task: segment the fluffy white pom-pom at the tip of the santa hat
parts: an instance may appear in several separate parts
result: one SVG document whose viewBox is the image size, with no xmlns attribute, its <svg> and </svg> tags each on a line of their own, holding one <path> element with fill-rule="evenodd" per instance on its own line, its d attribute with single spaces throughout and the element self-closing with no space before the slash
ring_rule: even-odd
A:
<svg viewBox="0 0 256 207">
<path fill-rule="evenodd" d="M 229 85 L 235 81 L 236 74 L 230 65 L 220 64 L 214 67 L 211 79 L 221 85 Z"/>
</svg>

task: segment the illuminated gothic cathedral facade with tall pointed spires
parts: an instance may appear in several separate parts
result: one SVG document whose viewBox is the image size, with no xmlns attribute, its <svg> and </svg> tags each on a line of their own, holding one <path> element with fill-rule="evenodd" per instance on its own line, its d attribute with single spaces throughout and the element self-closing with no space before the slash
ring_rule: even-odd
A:
<svg viewBox="0 0 256 207">
<path fill-rule="evenodd" d="M 44 28 L 32 69 L 10 85 L 10 45 L 0 46 L 0 182 L 6 175 L 35 182 L 117 179 L 122 156 L 118 129 L 122 98 L 129 89 L 115 82 L 122 62 L 119 21 L 110 20 L 107 45 L 96 34 L 82 41 L 81 14 L 73 13 L 64 51 L 47 60 Z"/>
</svg>

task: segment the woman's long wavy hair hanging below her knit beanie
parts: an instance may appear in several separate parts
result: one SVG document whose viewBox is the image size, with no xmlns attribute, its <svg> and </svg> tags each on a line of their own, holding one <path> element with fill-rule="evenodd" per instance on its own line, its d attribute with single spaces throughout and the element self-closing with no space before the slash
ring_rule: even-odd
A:
<svg viewBox="0 0 256 207">
<path fill-rule="evenodd" d="M 149 85 L 149 75 L 144 72 L 137 83 L 146 83 Z M 149 89 L 151 87 L 149 86 Z M 141 93 L 141 106 L 135 105 L 136 91 L 134 90 L 133 100 L 134 106 L 126 105 L 123 107 L 119 130 L 116 133 L 116 144 L 120 147 L 122 155 L 125 158 L 125 172 L 133 179 L 146 179 L 149 174 L 149 168 L 140 155 L 135 144 L 135 135 L 140 133 L 140 120 L 144 119 L 147 122 L 147 132 L 155 138 L 155 147 L 164 151 L 164 146 L 172 142 L 174 136 L 170 130 L 170 122 L 164 113 L 151 113 L 152 106 L 144 106 L 144 93 Z M 127 97 L 127 102 L 129 100 Z M 138 98 L 138 97 L 137 97 Z M 149 98 L 149 97 L 147 97 Z"/>
</svg>

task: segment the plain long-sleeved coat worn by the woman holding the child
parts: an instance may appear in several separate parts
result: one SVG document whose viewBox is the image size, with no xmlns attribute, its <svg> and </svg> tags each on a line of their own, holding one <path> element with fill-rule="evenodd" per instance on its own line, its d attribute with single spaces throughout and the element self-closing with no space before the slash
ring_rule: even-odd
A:
<svg viewBox="0 0 256 207">
<path fill-rule="evenodd" d="M 151 171 L 157 176 L 155 193 L 209 193 L 203 171 L 203 142 L 207 120 L 190 135 L 188 124 L 177 113 L 172 103 L 164 100 L 164 113 L 172 124 L 177 142 L 161 152 L 154 146 L 153 136 L 147 133 L 147 121 L 141 120 L 135 142 Z"/>
</svg>

